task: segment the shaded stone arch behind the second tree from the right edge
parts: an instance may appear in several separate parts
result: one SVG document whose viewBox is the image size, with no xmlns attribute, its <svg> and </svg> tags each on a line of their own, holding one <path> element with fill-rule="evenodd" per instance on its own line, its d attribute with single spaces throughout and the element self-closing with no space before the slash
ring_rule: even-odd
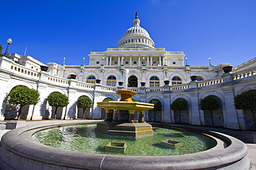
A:
<svg viewBox="0 0 256 170">
<path fill-rule="evenodd" d="M 219 100 L 220 107 L 217 110 L 212 111 L 212 118 L 213 118 L 213 123 L 214 126 L 216 127 L 223 127 L 224 126 L 224 115 L 223 115 L 223 106 L 221 105 L 221 98 L 219 98 L 216 95 L 208 95 L 207 97 L 213 97 Z M 204 117 L 204 122 L 206 126 L 212 126 L 212 118 L 209 110 L 203 110 L 203 117 Z"/>
</svg>

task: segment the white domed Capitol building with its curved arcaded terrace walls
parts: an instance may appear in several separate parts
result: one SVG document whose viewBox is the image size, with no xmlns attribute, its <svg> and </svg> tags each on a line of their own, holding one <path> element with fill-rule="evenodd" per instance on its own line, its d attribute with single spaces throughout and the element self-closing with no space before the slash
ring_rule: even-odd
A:
<svg viewBox="0 0 256 170">
<path fill-rule="evenodd" d="M 121 35 L 120 35 L 121 36 Z M 37 89 L 40 100 L 37 105 L 24 107 L 21 118 L 41 120 L 51 118 L 54 109 L 48 105 L 48 95 L 60 92 L 68 96 L 67 107 L 57 111 L 57 118 L 81 118 L 77 99 L 87 96 L 93 107 L 86 118 L 102 119 L 104 111 L 97 103 L 105 98 L 119 100 L 118 89 L 131 89 L 137 94 L 133 99 L 149 103 L 159 100 L 161 111 L 145 112 L 146 121 L 162 123 L 186 123 L 211 125 L 209 111 L 199 109 L 199 100 L 214 96 L 221 108 L 214 111 L 214 125 L 229 129 L 254 129 L 250 111 L 235 109 L 234 97 L 241 92 L 256 90 L 256 58 L 230 67 L 219 65 L 190 66 L 185 52 L 170 52 L 164 47 L 155 47 L 154 41 L 140 27 L 138 14 L 133 26 L 125 31 L 117 48 L 104 52 L 90 52 L 89 65 L 59 65 L 41 63 L 32 56 L 8 53 L 0 58 L 0 119 L 13 119 L 17 107 L 8 104 L 10 90 L 19 85 Z M 42 65 L 48 70 L 42 69 Z M 223 71 L 229 68 L 228 71 Z M 186 100 L 187 111 L 170 108 L 174 100 Z"/>
</svg>

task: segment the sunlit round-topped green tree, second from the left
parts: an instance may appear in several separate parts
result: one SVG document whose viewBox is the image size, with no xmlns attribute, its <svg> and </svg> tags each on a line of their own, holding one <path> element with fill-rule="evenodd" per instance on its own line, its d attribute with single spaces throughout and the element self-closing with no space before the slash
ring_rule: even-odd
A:
<svg viewBox="0 0 256 170">
<path fill-rule="evenodd" d="M 54 118 L 56 119 L 57 109 L 68 105 L 68 97 L 60 92 L 53 92 L 48 96 L 48 103 L 55 107 Z"/>
</svg>

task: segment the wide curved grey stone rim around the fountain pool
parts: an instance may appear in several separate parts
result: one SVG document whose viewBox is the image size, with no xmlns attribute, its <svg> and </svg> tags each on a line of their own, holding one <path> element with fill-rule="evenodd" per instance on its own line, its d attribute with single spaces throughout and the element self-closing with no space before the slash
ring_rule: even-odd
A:
<svg viewBox="0 0 256 170">
<path fill-rule="evenodd" d="M 26 127 L 9 131 L 1 139 L 0 168 L 3 168 L 1 166 L 8 162 L 6 167 L 9 169 L 11 169 L 10 167 L 15 168 L 15 166 L 16 168 L 21 167 L 21 164 L 26 168 L 37 164 L 42 167 L 57 166 L 60 168 L 61 166 L 71 169 L 120 169 L 120 167 L 123 169 L 212 169 L 227 165 L 227 168 L 230 169 L 230 166 L 250 166 L 247 158 L 248 149 L 243 142 L 226 134 L 196 128 L 194 128 L 196 131 L 220 138 L 228 144 L 228 147 L 221 151 L 203 151 L 181 156 L 116 156 L 55 149 L 39 144 L 32 139 L 32 135 L 40 128 L 99 122 L 99 120 L 39 121 L 34 125 L 28 123 Z M 164 125 L 166 126 L 166 124 Z M 171 127 L 175 127 L 175 125 Z M 178 127 L 186 129 L 186 127 Z M 12 160 L 8 159 L 10 156 L 12 156 Z"/>
</svg>

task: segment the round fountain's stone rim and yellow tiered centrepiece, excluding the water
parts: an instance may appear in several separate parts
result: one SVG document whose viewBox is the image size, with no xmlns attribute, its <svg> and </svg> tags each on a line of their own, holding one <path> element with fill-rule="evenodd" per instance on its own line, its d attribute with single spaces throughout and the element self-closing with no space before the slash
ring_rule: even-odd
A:
<svg viewBox="0 0 256 170">
<path fill-rule="evenodd" d="M 154 127 L 159 127 L 158 129 L 164 126 L 196 131 L 207 135 L 217 143 L 215 147 L 205 151 L 174 156 L 158 156 L 157 154 L 154 156 L 124 156 L 108 153 L 82 153 L 80 152 L 80 145 L 73 140 L 71 140 L 71 145 L 77 147 L 78 151 L 56 149 L 33 140 L 33 134 L 44 129 L 66 125 L 95 125 L 95 123 L 97 123 L 96 130 L 101 132 L 99 134 L 107 135 L 107 138 L 109 138 L 109 134 L 116 136 L 118 140 L 124 138 L 119 136 L 132 136 L 129 138 L 135 137 L 134 140 L 155 138 L 155 136 L 152 136 L 152 126 L 145 123 L 143 119 L 144 111 L 152 109 L 154 105 L 132 102 L 131 96 L 136 92 L 130 90 L 120 90 L 117 94 L 121 95 L 120 101 L 98 103 L 98 107 L 107 110 L 107 118 L 104 121 L 39 121 L 27 123 L 26 127 L 9 131 L 1 138 L 0 169 L 250 169 L 250 162 L 247 157 L 248 149 L 243 142 L 226 134 L 207 131 L 199 127 L 153 124 Z M 134 120 L 134 111 L 139 111 L 138 120 Z M 157 131 L 157 128 L 155 129 Z M 79 136 L 77 134 L 73 135 L 75 138 L 80 138 Z M 138 138 L 142 136 L 149 137 Z M 171 136 L 174 136 L 173 138 L 176 136 L 176 140 L 172 140 Z M 160 140 L 158 142 L 161 142 L 161 147 L 175 149 L 183 145 L 183 142 L 180 142 L 180 139 L 183 138 L 186 138 L 183 133 L 174 132 L 169 133 L 167 139 L 156 139 Z M 59 140 L 66 142 L 62 138 Z M 100 142 L 92 138 L 91 142 L 86 142 L 85 145 L 90 147 L 92 143 Z M 105 145 L 107 151 L 116 152 L 115 154 L 125 153 L 129 149 L 126 148 L 129 146 L 122 141 L 109 141 Z M 140 148 L 147 147 L 144 142 L 138 142 L 137 145 Z M 134 150 L 134 147 L 131 147 L 131 150 Z M 154 149 L 154 151 L 158 151 L 158 149 Z M 169 151 L 167 152 L 169 153 Z"/>
</svg>

